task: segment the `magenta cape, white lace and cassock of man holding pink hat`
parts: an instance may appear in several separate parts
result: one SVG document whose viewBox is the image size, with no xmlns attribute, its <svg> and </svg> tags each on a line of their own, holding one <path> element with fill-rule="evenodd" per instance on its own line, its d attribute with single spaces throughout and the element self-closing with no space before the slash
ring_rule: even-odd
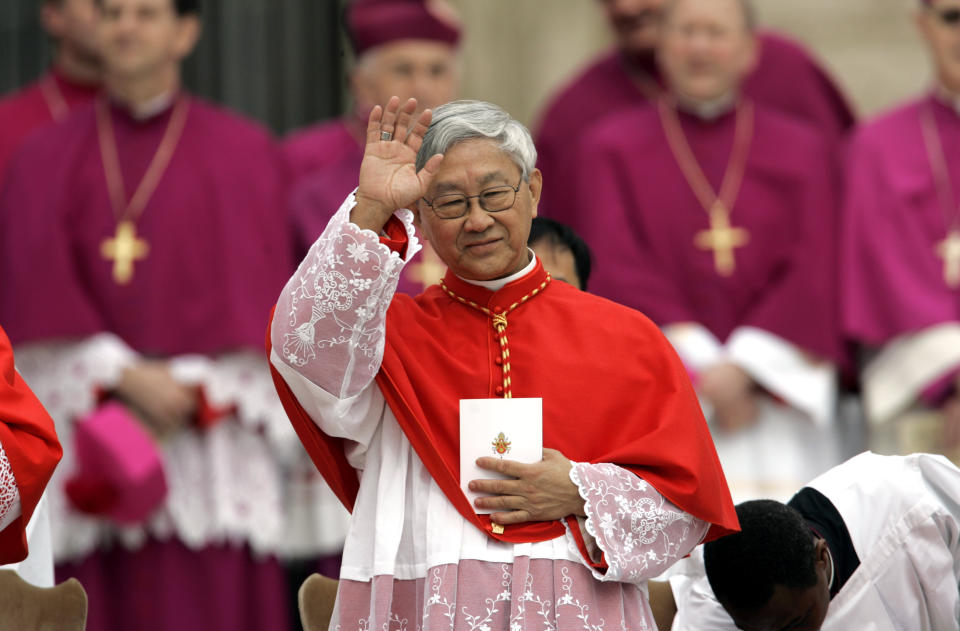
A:
<svg viewBox="0 0 960 631">
<path fill-rule="evenodd" d="M 176 119 L 184 122 L 169 165 L 135 218 L 149 249 L 133 261 L 126 284 L 104 256 L 117 219 L 98 111 L 111 123 L 127 198 L 171 118 L 185 112 Z M 86 586 L 91 631 L 287 628 L 276 557 L 284 478 L 271 451 L 280 441 L 267 431 L 276 406 L 256 398 L 266 366 L 245 359 L 261 347 L 292 270 L 283 173 L 267 133 L 184 94 L 143 119 L 97 101 L 38 131 L 10 167 L 0 192 L 0 321 L 18 360 L 31 364 L 58 431 L 73 432 L 94 387 L 109 389 L 109 354 L 81 354 L 106 338 L 122 340 L 113 347 L 133 356 L 126 365 L 159 358 L 170 360 L 172 372 L 179 361 L 181 383 L 197 380 L 230 410 L 215 426 L 163 441 L 170 492 L 141 524 L 118 527 L 67 508 L 59 485 L 58 578 L 77 576 Z M 73 348 L 80 350 L 71 355 Z M 71 384 L 81 387 L 70 392 Z M 72 443 L 65 444 L 66 460 Z M 250 472 L 238 492 L 233 480 Z"/>
</svg>

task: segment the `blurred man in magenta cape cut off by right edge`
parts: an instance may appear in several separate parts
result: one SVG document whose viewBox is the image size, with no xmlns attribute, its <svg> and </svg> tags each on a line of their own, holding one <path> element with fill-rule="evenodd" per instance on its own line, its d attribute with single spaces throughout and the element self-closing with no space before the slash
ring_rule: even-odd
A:
<svg viewBox="0 0 960 631">
<path fill-rule="evenodd" d="M 936 81 L 866 123 L 848 164 L 846 333 L 860 344 L 870 447 L 960 461 L 960 0 L 915 21 Z"/>
</svg>

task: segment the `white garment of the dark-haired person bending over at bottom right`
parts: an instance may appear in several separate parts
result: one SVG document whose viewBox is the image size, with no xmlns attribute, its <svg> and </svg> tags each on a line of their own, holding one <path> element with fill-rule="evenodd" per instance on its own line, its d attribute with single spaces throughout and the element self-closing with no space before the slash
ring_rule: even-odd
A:
<svg viewBox="0 0 960 631">
<path fill-rule="evenodd" d="M 837 508 L 860 558 L 822 631 L 960 629 L 960 469 L 942 456 L 867 452 L 807 486 Z M 736 631 L 702 565 L 687 569 L 670 579 L 673 631 Z"/>
</svg>

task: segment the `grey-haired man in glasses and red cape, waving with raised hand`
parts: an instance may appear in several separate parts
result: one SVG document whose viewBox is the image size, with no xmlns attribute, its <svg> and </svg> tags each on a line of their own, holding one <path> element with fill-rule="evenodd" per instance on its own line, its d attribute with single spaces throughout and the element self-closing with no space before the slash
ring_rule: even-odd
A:
<svg viewBox="0 0 960 631">
<path fill-rule="evenodd" d="M 488 103 L 415 111 L 374 108 L 359 188 L 270 331 L 287 412 L 353 511 L 332 624 L 655 628 L 647 579 L 737 528 L 683 366 L 527 249 L 522 125 Z M 449 268 L 416 299 L 394 294 L 415 223 Z"/>
</svg>

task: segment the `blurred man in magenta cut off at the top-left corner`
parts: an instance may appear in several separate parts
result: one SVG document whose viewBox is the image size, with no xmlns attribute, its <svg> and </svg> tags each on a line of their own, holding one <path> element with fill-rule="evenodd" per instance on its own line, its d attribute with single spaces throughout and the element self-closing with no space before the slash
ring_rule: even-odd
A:
<svg viewBox="0 0 960 631">
<path fill-rule="evenodd" d="M 100 83 L 95 0 L 43 0 L 43 28 L 56 46 L 50 69 L 0 99 L 0 183 L 14 152 L 30 133 L 62 121 L 88 103 Z"/>
</svg>

